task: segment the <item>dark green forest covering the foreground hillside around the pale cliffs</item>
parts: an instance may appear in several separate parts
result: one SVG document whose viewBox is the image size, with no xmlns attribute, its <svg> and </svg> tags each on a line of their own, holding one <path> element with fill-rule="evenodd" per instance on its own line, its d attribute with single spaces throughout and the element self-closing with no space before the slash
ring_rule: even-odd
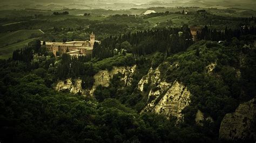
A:
<svg viewBox="0 0 256 143">
<path fill-rule="evenodd" d="M 153 31 L 144 31 L 137 35 L 154 36 L 151 32 Z M 175 34 L 176 30 L 154 32 Z M 223 116 L 234 111 L 239 103 L 255 96 L 255 50 L 243 47 L 244 42 L 237 38 L 223 44 L 202 41 L 188 49 L 189 45 L 181 46 L 176 51 L 179 52 L 178 55 L 171 52 L 167 54 L 167 49 L 149 49 L 147 53 L 137 53 L 138 56 L 134 59 L 131 53 L 136 51 L 136 43 L 139 45 L 144 40 L 133 41 L 132 36 L 126 36 L 118 38 L 117 43 L 108 44 L 118 45 L 120 42 L 119 49 L 130 49 L 107 59 L 99 57 L 97 52 L 93 55 L 94 58 L 71 58 L 64 54 L 56 63 L 55 57 L 46 52 L 40 41 L 36 40 L 25 49 L 15 51 L 12 59 L 2 60 L 1 139 L 5 142 L 190 142 L 193 138 L 196 142 L 215 142 Z M 111 42 L 111 39 L 114 38 L 105 39 L 103 46 L 105 42 Z M 161 39 L 158 40 L 165 42 L 164 38 Z M 123 44 L 123 41 L 131 44 Z M 106 49 L 103 46 L 96 49 Z M 147 58 L 146 55 L 154 52 L 159 53 L 152 59 Z M 239 63 L 239 53 L 246 56 L 245 64 Z M 163 72 L 163 78 L 169 81 L 180 80 L 197 95 L 185 109 L 184 122 L 179 126 L 176 125 L 175 118 L 168 120 L 159 114 L 138 114 L 145 100 L 136 92 L 133 93 L 145 70 L 164 61 L 169 64 L 178 61 L 180 68 Z M 214 74 L 209 76 L 203 69 L 211 62 L 217 62 L 218 66 L 215 67 Z M 97 71 L 133 64 L 137 64 L 139 70 L 134 75 L 131 86 L 117 90 L 122 87 L 118 80 L 122 75 L 117 74 L 111 80 L 109 88 L 96 88 L 95 98 L 56 92 L 51 88 L 58 79 L 69 77 L 82 77 L 83 87 L 91 88 L 92 76 Z M 241 79 L 236 78 L 232 67 L 241 70 Z M 223 78 L 216 79 L 215 74 Z M 241 94 L 241 91 L 245 93 Z M 211 115 L 215 120 L 214 124 L 208 123 L 204 127 L 194 125 L 196 108 Z"/>
</svg>

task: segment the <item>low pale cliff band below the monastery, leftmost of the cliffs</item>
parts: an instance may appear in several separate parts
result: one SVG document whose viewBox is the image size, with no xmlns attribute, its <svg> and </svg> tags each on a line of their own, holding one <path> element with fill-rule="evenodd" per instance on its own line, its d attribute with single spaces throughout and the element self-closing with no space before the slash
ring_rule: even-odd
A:
<svg viewBox="0 0 256 143">
<path fill-rule="evenodd" d="M 136 70 L 136 65 L 134 66 L 121 66 L 121 67 L 113 67 L 112 70 L 102 70 L 99 71 L 93 78 L 95 79 L 95 83 L 93 84 L 90 90 L 83 90 L 82 88 L 82 80 L 81 79 L 66 79 L 58 81 L 57 85 L 55 86 L 55 90 L 57 91 L 69 91 L 71 93 L 82 93 L 85 96 L 92 96 L 93 92 L 95 91 L 96 87 L 99 85 L 102 86 L 109 86 L 110 79 L 113 78 L 114 74 L 121 73 L 123 74 L 123 78 L 121 79 L 124 81 L 126 85 L 130 85 L 132 82 L 132 74 Z"/>
</svg>

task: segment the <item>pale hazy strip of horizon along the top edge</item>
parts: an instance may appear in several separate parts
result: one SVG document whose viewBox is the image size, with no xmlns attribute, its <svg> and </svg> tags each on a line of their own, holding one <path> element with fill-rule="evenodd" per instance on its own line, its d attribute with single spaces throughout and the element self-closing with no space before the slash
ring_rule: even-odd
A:
<svg viewBox="0 0 256 143">
<path fill-rule="evenodd" d="M 42 9 L 42 10 L 61 10 L 61 9 L 131 9 L 131 8 L 151 8 L 151 7 L 194 7 L 228 9 L 251 9 L 255 8 L 254 0 L 201 0 L 201 1 L 169 1 L 169 0 L 2 0 L 1 10 L 11 9 Z"/>
</svg>

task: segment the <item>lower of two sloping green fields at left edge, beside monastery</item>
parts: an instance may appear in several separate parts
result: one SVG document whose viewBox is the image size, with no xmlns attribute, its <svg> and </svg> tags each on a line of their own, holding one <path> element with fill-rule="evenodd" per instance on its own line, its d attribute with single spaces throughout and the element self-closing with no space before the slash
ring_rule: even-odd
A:
<svg viewBox="0 0 256 143">
<path fill-rule="evenodd" d="M 24 40 L 22 42 L 19 43 L 15 43 L 9 46 L 5 46 L 5 47 L 0 47 L 0 59 L 8 59 L 12 56 L 12 52 L 16 49 L 21 49 L 22 47 L 28 45 L 29 42 L 31 42 L 32 40 L 34 40 L 36 38 L 31 38 L 31 39 L 27 39 Z"/>
</svg>

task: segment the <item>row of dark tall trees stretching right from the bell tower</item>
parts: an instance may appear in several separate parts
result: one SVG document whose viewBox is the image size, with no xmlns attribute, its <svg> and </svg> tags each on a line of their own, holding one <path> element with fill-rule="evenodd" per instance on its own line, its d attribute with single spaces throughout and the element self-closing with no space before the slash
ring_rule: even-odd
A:
<svg viewBox="0 0 256 143">
<path fill-rule="evenodd" d="M 170 55 L 186 50 L 191 44 L 193 41 L 187 25 L 182 28 L 129 32 L 120 36 L 107 37 L 100 45 L 95 44 L 92 57 L 103 59 L 113 56 L 113 50 L 121 49 L 138 56 L 156 51 Z"/>
</svg>

